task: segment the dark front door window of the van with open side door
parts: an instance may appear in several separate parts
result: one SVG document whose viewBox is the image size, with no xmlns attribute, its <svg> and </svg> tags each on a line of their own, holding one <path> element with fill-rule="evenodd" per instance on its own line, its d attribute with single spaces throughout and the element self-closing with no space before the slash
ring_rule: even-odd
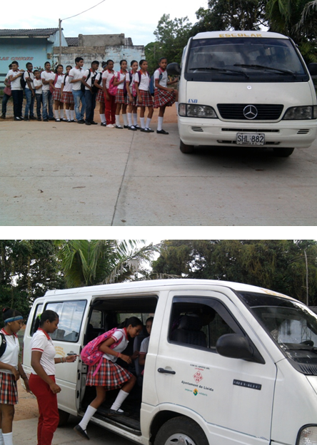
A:
<svg viewBox="0 0 317 445">
<path fill-rule="evenodd" d="M 169 330 L 171 342 L 216 352 L 218 338 L 231 333 L 242 332 L 226 307 L 218 300 L 174 298 Z"/>
</svg>

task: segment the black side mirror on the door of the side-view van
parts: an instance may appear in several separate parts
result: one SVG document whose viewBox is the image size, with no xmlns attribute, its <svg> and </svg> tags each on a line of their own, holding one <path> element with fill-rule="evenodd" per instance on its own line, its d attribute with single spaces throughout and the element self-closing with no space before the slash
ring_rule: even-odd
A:
<svg viewBox="0 0 317 445">
<path fill-rule="evenodd" d="M 253 359 L 253 349 L 241 334 L 224 334 L 216 342 L 216 351 L 231 359 Z"/>
</svg>

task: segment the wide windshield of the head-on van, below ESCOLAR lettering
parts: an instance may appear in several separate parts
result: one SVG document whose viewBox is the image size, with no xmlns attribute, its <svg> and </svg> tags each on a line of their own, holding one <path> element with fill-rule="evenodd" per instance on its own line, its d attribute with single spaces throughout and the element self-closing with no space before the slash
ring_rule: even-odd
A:
<svg viewBox="0 0 317 445">
<path fill-rule="evenodd" d="M 309 77 L 290 40 L 233 37 L 193 39 L 185 78 L 188 81 L 302 82 Z"/>
</svg>

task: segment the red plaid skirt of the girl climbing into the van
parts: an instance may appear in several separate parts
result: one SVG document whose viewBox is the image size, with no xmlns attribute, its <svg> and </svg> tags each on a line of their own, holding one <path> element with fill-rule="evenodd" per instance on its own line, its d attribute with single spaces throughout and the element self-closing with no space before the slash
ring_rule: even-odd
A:
<svg viewBox="0 0 317 445">
<path fill-rule="evenodd" d="M 105 358 L 102 360 L 101 367 L 94 377 L 93 374 L 97 366 L 98 363 L 88 369 L 87 387 L 106 387 L 107 391 L 109 391 L 111 389 L 121 388 L 132 377 L 131 372 Z"/>
</svg>

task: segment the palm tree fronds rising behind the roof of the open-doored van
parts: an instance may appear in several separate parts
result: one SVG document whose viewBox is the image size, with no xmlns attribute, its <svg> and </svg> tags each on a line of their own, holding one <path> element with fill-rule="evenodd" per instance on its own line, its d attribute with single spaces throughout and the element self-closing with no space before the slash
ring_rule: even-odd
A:
<svg viewBox="0 0 317 445">
<path fill-rule="evenodd" d="M 158 247 L 144 240 L 58 240 L 61 268 L 68 287 L 139 279 L 142 265 Z"/>
</svg>

